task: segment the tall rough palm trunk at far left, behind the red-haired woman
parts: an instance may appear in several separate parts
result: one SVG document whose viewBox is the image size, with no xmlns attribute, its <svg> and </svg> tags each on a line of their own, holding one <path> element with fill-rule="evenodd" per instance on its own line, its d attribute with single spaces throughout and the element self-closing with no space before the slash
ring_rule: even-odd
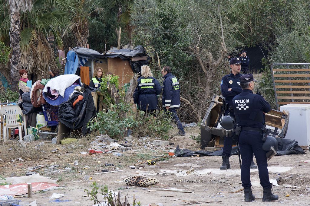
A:
<svg viewBox="0 0 310 206">
<path fill-rule="evenodd" d="M 12 51 L 11 63 L 11 88 L 12 91 L 18 91 L 18 82 L 20 79 L 20 12 L 11 11 L 10 26 L 10 47 Z"/>
</svg>

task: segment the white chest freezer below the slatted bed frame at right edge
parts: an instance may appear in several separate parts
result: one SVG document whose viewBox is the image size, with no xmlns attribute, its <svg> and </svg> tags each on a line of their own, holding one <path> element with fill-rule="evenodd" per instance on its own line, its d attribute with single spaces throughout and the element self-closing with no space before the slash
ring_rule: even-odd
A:
<svg viewBox="0 0 310 206">
<path fill-rule="evenodd" d="M 285 138 L 298 141 L 298 145 L 310 145 L 310 103 L 286 104 L 280 110 L 290 112 L 290 120 Z"/>
</svg>

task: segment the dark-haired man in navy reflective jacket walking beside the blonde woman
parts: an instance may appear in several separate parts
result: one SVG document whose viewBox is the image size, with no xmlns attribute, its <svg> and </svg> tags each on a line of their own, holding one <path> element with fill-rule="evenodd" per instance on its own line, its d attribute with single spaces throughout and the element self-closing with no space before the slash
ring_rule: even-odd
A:
<svg viewBox="0 0 310 206">
<path fill-rule="evenodd" d="M 175 110 L 181 105 L 179 80 L 171 74 L 171 68 L 169 66 L 164 66 L 162 68 L 162 77 L 164 78 L 162 90 L 162 107 L 164 107 L 166 111 L 171 112 L 172 119 L 175 121 L 179 129 L 178 134 L 185 136 L 182 123 Z"/>
</svg>

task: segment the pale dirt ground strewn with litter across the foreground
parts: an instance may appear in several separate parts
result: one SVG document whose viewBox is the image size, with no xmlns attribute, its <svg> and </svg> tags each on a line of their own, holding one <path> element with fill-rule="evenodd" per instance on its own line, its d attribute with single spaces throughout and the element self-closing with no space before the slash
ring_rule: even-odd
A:
<svg viewBox="0 0 310 206">
<path fill-rule="evenodd" d="M 133 196 L 141 205 L 149 205 L 151 203 L 162 203 L 164 206 L 171 205 L 310 205 L 310 153 L 307 150 L 303 155 L 285 155 L 276 156 L 268 162 L 269 179 L 282 178 L 278 182 L 279 186 L 273 186 L 275 194 L 279 195 L 279 200 L 272 203 L 263 203 L 263 189 L 259 183 L 258 170 L 251 171 L 251 182 L 254 188 L 253 194 L 255 201 L 251 203 L 244 202 L 243 191 L 231 193 L 241 186 L 240 168 L 238 156 L 234 155 L 230 158 L 232 169 L 221 171 L 219 166 L 222 163 L 221 157 L 188 157 L 178 158 L 170 157 L 163 161 L 158 161 L 156 166 L 148 166 L 141 164 L 136 169 L 128 166 L 134 165 L 138 161 L 148 160 L 156 155 L 167 153 L 169 149 L 174 149 L 176 145 L 180 145 L 183 149 L 198 150 L 199 144 L 190 138 L 191 135 L 199 134 L 199 127 L 186 128 L 186 136 L 172 136 L 169 145 L 164 148 L 155 147 L 139 141 L 133 141 L 133 148 L 125 152 L 119 151 L 123 155 L 116 157 L 113 153 L 103 153 L 98 155 L 81 154 L 87 152 L 90 148 L 90 142 L 93 139 L 81 140 L 74 145 L 52 145 L 50 141 L 43 141 L 43 153 L 41 159 L 37 161 L 15 161 L 6 164 L 10 155 L 18 153 L 12 151 L 9 145 L 2 145 L 0 164 L 6 166 L 0 167 L 0 174 L 3 177 L 24 176 L 29 167 L 37 165 L 59 165 L 54 169 L 44 167 L 37 170 L 44 177 L 58 179 L 57 183 L 62 186 L 59 189 L 40 191 L 32 195 L 32 198 L 18 197 L 18 200 L 31 202 L 37 200 L 38 205 L 93 205 L 93 201 L 85 196 L 84 189 L 90 189 L 93 181 L 100 186 L 107 185 L 109 189 L 120 192 L 121 199 L 128 195 L 129 202 L 132 202 Z M 171 134 L 176 133 L 176 130 Z M 42 141 L 36 141 L 36 144 Z M 138 144 L 135 146 L 135 142 Z M 151 139 L 152 142 L 152 139 Z M 144 148 L 147 145 L 147 149 Z M 58 148 L 57 148 L 58 147 Z M 53 153 L 54 149 L 57 149 Z M 8 151 L 9 150 L 9 151 Z M 16 157 L 16 155 L 14 156 Z M 74 161 L 78 161 L 78 165 L 74 165 Z M 71 164 L 70 164 L 71 163 Z M 114 166 L 104 166 L 104 163 L 113 163 Z M 85 166 L 90 168 L 85 169 Z M 72 168 L 64 171 L 65 167 Z M 122 172 L 95 174 L 101 172 L 101 169 L 124 170 Z M 188 171 L 190 170 L 190 171 Z M 186 173 L 187 172 L 187 173 Z M 90 175 L 92 180 L 84 180 L 85 175 Z M 146 188 L 128 186 L 123 179 L 141 175 L 159 180 L 159 184 L 151 185 Z M 298 178 L 298 179 L 296 179 Z M 183 193 L 175 191 L 158 191 L 156 188 L 174 187 L 193 193 Z M 64 194 L 59 200 L 70 200 L 68 202 L 55 203 L 49 202 L 49 197 L 53 193 Z M 286 195 L 290 195 L 286 197 Z M 99 196 L 99 200 L 103 197 Z M 209 202 L 209 203 L 207 203 Z"/>
</svg>

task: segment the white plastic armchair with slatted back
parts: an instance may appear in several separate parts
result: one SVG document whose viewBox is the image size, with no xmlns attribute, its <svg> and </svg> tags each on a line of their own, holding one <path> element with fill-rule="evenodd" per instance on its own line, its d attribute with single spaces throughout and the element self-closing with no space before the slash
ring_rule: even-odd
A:
<svg viewBox="0 0 310 206">
<path fill-rule="evenodd" d="M 22 122 L 17 122 L 16 115 L 18 114 L 20 114 L 23 117 Z M 4 123 L 3 123 L 3 137 L 2 137 L 4 141 L 8 139 L 7 134 L 8 134 L 9 128 L 18 127 L 20 141 L 22 140 L 22 133 L 21 133 L 22 126 L 24 126 L 24 132 L 25 132 L 25 135 L 27 135 L 27 128 L 25 124 L 26 116 L 23 114 L 19 106 L 16 106 L 16 105 L 2 106 L 0 109 L 0 115 L 5 116 L 3 119 Z"/>
</svg>

